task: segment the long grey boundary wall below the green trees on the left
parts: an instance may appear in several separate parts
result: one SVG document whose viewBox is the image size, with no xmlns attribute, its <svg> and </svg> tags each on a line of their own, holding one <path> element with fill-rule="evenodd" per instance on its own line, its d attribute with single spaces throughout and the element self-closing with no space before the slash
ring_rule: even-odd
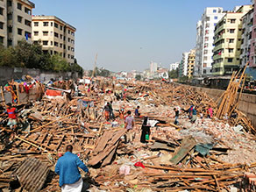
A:
<svg viewBox="0 0 256 192">
<path fill-rule="evenodd" d="M 0 68 L 0 85 L 3 86 L 6 82 L 11 79 L 17 80 L 24 78 L 25 75 L 31 75 L 33 78 L 41 82 L 49 81 L 50 79 L 54 80 L 66 80 L 74 79 L 76 80 L 80 76 L 78 73 L 71 72 L 60 72 L 53 73 L 49 71 L 43 71 L 35 68 Z"/>
</svg>

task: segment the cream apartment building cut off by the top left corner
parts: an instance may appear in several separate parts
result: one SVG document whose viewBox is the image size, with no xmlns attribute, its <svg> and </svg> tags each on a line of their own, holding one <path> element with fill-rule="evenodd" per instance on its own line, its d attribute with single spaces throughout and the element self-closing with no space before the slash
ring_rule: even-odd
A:
<svg viewBox="0 0 256 192">
<path fill-rule="evenodd" d="M 32 9 L 28 0 L 0 0 L 0 43 L 17 46 L 18 41 L 32 42 Z"/>
</svg>

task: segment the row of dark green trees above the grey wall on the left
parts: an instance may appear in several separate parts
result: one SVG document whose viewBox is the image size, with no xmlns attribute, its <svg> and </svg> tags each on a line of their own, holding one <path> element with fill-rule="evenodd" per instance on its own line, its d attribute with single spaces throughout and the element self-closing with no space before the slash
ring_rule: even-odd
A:
<svg viewBox="0 0 256 192">
<path fill-rule="evenodd" d="M 69 65 L 60 55 L 44 53 L 42 46 L 29 44 L 25 40 L 19 41 L 18 46 L 4 48 L 0 45 L 0 66 L 9 68 L 39 68 L 56 72 L 78 72 L 82 75 L 83 69 L 77 60 Z"/>
</svg>

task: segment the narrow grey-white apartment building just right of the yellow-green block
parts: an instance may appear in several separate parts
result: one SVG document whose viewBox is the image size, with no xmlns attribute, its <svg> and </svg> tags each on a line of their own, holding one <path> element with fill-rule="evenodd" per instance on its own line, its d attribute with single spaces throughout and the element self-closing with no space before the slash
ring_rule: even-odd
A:
<svg viewBox="0 0 256 192">
<path fill-rule="evenodd" d="M 245 14 L 242 18 L 242 40 L 240 49 L 240 68 L 244 68 L 249 61 L 251 52 L 252 39 L 252 24 L 253 24 L 253 9 Z"/>
</svg>

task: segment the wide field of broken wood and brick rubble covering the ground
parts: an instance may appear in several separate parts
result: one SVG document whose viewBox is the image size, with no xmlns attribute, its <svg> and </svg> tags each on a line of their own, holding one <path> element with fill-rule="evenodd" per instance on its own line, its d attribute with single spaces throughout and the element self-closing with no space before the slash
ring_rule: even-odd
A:
<svg viewBox="0 0 256 192">
<path fill-rule="evenodd" d="M 252 191 L 256 130 L 236 107 L 245 78 L 235 79 L 233 74 L 219 101 L 176 83 L 96 78 L 90 88 L 74 89 L 72 81 L 13 82 L 16 91 L 8 85 L 0 89 L 0 114 L 16 96 L 19 118 L 18 133 L 10 139 L 7 117 L 0 117 L 0 191 L 60 191 L 54 166 L 68 144 L 89 167 L 84 181 L 90 191 Z M 115 119 L 107 121 L 103 108 L 110 101 Z M 197 108 L 194 124 L 186 113 L 190 105 Z M 120 111 L 134 115 L 137 106 L 135 140 L 125 144 Z M 206 118 L 209 106 L 212 118 Z M 181 111 L 178 125 L 174 108 Z M 151 133 L 141 143 L 144 117 Z"/>
</svg>

